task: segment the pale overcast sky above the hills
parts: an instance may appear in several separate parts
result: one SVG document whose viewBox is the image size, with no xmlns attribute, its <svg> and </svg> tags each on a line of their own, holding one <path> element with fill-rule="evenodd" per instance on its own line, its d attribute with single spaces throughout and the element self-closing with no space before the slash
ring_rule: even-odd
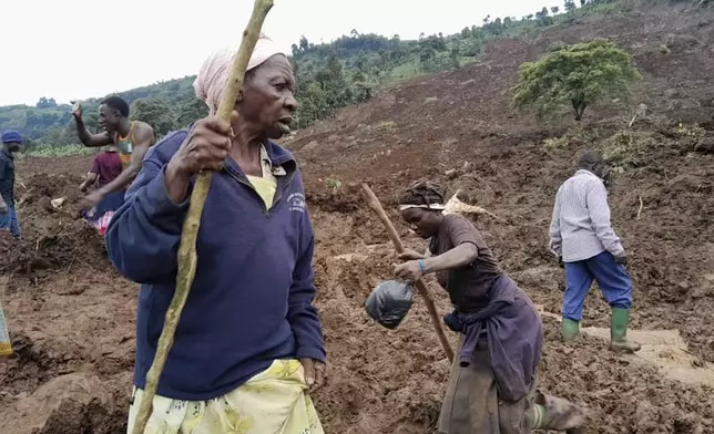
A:
<svg viewBox="0 0 714 434">
<path fill-rule="evenodd" d="M 302 34 L 460 31 L 490 14 L 522 17 L 560 0 L 275 0 L 264 32 L 289 49 Z M 253 0 L 0 0 L 0 105 L 103 96 L 193 75 L 239 41 Z"/>
</svg>

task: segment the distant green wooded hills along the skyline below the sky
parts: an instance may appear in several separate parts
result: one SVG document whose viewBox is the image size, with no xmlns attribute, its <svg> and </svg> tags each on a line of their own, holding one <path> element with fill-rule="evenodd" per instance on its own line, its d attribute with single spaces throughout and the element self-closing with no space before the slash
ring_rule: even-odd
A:
<svg viewBox="0 0 714 434">
<path fill-rule="evenodd" d="M 419 74 L 453 70 L 477 61 L 483 46 L 501 38 L 528 37 L 551 25 L 569 25 L 586 16 L 621 13 L 643 3 L 688 2 L 702 7 L 714 0 L 564 0 L 562 7 L 541 8 L 520 19 L 486 17 L 479 25 L 457 34 L 421 34 L 401 40 L 353 30 L 332 43 L 315 44 L 305 38 L 292 48 L 302 104 L 297 126 L 332 116 L 337 110 L 369 100 L 380 89 Z M 161 136 L 183 128 L 206 115 L 205 105 L 193 91 L 194 76 L 159 82 L 118 93 L 132 106 L 132 117 L 154 126 Z M 99 131 L 98 106 L 102 99 L 82 101 L 88 127 Z M 586 101 L 590 103 L 590 101 Z M 71 106 L 42 97 L 35 106 L 0 107 L 0 131 L 18 128 L 29 149 L 61 146 L 80 149 Z M 68 151 L 68 152 L 69 152 Z M 64 152 L 64 151 L 62 151 Z"/>
</svg>

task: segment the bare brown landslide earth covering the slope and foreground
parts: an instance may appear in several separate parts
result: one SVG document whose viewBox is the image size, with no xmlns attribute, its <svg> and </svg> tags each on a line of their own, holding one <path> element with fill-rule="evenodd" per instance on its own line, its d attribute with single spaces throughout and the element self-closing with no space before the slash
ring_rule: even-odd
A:
<svg viewBox="0 0 714 434">
<path fill-rule="evenodd" d="M 582 130 L 567 133 L 565 122 L 537 125 L 509 111 L 508 89 L 522 61 L 558 41 L 600 35 L 614 35 L 634 52 L 644 75 L 636 102 L 647 104 L 647 118 L 622 132 L 632 113 L 602 105 L 586 112 Z M 448 375 L 419 300 L 394 331 L 364 311 L 371 288 L 389 278 L 394 256 L 359 195 L 360 180 L 396 223 L 394 196 L 412 179 L 467 190 L 503 220 L 476 221 L 503 267 L 558 316 L 562 271 L 545 249 L 553 194 L 572 172 L 574 153 L 592 146 L 619 156 L 610 200 L 631 257 L 634 327 L 676 329 L 696 364 L 714 362 L 714 156 L 695 152 L 707 149 L 712 133 L 687 126 L 711 126 L 712 46 L 713 12 L 660 7 L 586 19 L 536 39 L 493 43 L 480 63 L 401 83 L 287 144 L 305 172 L 317 237 L 317 304 L 332 376 L 315 399 L 328 433 L 431 433 Z M 563 134 L 572 137 L 570 147 L 545 152 L 543 141 Z M 72 217 L 88 165 L 86 158 L 18 165 L 26 241 L 0 240 L 2 302 L 16 348 L 0 360 L 6 434 L 126 428 L 136 288 L 111 268 L 101 239 Z M 68 197 L 63 209 L 48 205 L 61 196 Z M 410 246 L 421 247 L 399 227 Z M 431 287 L 447 312 L 447 298 Z M 541 385 L 594 411 L 586 433 L 714 432 L 710 386 L 665 379 L 654 366 L 609 353 L 596 338 L 565 348 L 559 324 L 550 317 L 544 322 Z M 585 322 L 608 324 L 606 304 L 594 291 Z"/>
</svg>

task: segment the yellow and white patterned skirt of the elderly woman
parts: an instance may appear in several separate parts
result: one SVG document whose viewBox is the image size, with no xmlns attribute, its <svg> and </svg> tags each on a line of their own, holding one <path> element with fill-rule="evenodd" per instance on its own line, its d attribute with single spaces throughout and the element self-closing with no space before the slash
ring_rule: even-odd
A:
<svg viewBox="0 0 714 434">
<path fill-rule="evenodd" d="M 129 409 L 131 434 L 143 391 Z M 324 434 L 297 360 L 276 360 L 238 389 L 208 401 L 154 396 L 145 434 Z"/>
</svg>

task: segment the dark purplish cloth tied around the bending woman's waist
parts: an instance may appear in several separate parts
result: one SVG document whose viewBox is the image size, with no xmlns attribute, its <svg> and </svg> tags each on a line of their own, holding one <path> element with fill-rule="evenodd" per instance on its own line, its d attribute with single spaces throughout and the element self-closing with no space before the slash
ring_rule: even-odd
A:
<svg viewBox="0 0 714 434">
<path fill-rule="evenodd" d="M 483 309 L 473 313 L 455 310 L 443 321 L 465 335 L 461 366 L 472 363 L 479 339 L 486 334 L 500 397 L 518 401 L 528 394 L 540 362 L 542 323 L 530 298 L 510 277 L 503 275 L 493 282 Z"/>
</svg>

